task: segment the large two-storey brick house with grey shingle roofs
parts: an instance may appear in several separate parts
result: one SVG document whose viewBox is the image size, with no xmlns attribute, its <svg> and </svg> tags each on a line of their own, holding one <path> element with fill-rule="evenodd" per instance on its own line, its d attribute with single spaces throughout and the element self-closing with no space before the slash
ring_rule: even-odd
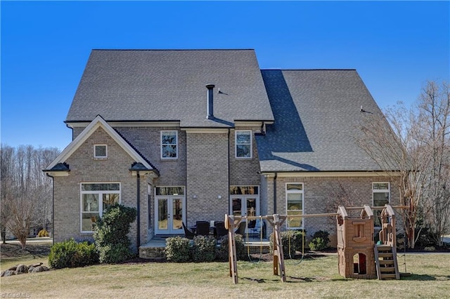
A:
<svg viewBox="0 0 450 299">
<path fill-rule="evenodd" d="M 226 213 L 324 213 L 339 190 L 397 204 L 356 145 L 366 111 L 381 113 L 354 69 L 261 70 L 253 50 L 94 50 L 65 120 L 72 142 L 44 170 L 54 240 L 89 239 L 115 202 L 139 210 L 134 246 Z M 323 218 L 289 226 L 333 231 Z"/>
</svg>

